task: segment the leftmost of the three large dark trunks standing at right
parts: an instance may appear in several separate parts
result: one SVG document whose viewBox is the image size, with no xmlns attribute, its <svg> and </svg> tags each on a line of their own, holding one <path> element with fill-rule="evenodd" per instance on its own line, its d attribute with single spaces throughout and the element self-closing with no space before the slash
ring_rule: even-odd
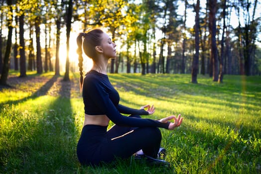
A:
<svg viewBox="0 0 261 174">
<path fill-rule="evenodd" d="M 191 71 L 191 82 L 197 84 L 197 74 L 198 74 L 198 63 L 199 63 L 199 5 L 200 0 L 197 0 L 195 6 L 196 17 L 195 17 L 195 55 L 192 61 L 192 71 Z"/>
</svg>

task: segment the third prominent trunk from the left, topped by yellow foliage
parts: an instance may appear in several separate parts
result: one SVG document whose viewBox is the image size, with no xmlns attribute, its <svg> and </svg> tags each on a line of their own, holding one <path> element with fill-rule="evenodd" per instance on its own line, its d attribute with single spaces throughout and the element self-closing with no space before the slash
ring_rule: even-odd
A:
<svg viewBox="0 0 261 174">
<path fill-rule="evenodd" d="M 43 73 L 42 57 L 41 57 L 41 44 L 40 44 L 40 17 L 35 19 L 35 34 L 36 34 L 36 70 L 37 74 Z"/>
</svg>

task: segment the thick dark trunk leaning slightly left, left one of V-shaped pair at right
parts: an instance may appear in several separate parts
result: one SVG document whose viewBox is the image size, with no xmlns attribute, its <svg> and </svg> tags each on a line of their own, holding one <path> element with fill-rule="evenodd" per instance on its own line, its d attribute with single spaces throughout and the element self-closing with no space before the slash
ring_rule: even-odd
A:
<svg viewBox="0 0 261 174">
<path fill-rule="evenodd" d="M 216 43 L 216 8 L 217 0 L 209 0 L 209 25 L 211 34 L 211 59 L 213 63 L 213 81 L 218 81 L 218 49 Z"/>
</svg>

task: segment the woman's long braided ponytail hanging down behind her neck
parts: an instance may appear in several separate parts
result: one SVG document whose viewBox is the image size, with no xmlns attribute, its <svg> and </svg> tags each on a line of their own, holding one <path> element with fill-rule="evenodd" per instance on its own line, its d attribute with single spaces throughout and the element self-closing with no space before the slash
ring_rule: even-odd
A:
<svg viewBox="0 0 261 174">
<path fill-rule="evenodd" d="M 83 37 L 84 37 L 84 33 L 79 33 L 78 37 L 77 37 L 77 54 L 79 55 L 78 60 L 78 66 L 79 66 L 79 71 L 80 71 L 80 89 L 82 89 L 83 86 L 83 51 L 82 51 L 82 42 L 83 42 Z"/>
</svg>

